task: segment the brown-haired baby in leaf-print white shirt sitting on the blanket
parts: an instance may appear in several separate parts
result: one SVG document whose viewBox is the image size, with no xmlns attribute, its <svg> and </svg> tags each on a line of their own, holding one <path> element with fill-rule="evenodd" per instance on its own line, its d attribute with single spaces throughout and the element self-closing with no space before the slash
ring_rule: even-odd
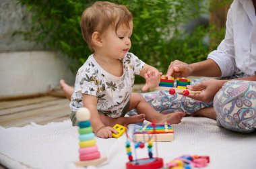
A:
<svg viewBox="0 0 256 169">
<path fill-rule="evenodd" d="M 143 91 L 156 87 L 160 75 L 153 66 L 145 64 L 130 53 L 133 17 L 123 5 L 97 1 L 82 14 L 81 29 L 91 54 L 79 68 L 71 96 L 71 120 L 77 124 L 75 112 L 87 107 L 91 112 L 91 123 L 98 137 L 112 137 L 117 133 L 113 125 L 129 125 L 156 120 L 180 123 L 183 112 L 162 115 L 151 107 L 139 93 L 132 93 L 135 74 L 146 78 Z M 137 109 L 139 115 L 124 117 Z"/>
</svg>

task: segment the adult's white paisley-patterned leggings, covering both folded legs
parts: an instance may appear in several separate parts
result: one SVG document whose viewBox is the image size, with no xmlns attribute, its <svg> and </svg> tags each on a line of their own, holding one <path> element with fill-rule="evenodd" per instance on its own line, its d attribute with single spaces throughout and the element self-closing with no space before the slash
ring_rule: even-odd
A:
<svg viewBox="0 0 256 169">
<path fill-rule="evenodd" d="M 246 76 L 230 76 L 238 78 Z M 205 79 L 197 79 L 191 82 L 196 84 Z M 256 82 L 245 80 L 232 80 L 226 82 L 222 89 L 216 93 L 214 103 L 203 103 L 183 95 L 170 95 L 168 91 L 154 91 L 151 93 L 141 93 L 141 95 L 160 113 L 172 113 L 183 111 L 191 115 L 205 107 L 214 107 L 217 115 L 218 125 L 238 131 L 249 133 L 256 128 Z M 129 111 L 128 115 L 135 115 L 136 111 Z"/>
</svg>

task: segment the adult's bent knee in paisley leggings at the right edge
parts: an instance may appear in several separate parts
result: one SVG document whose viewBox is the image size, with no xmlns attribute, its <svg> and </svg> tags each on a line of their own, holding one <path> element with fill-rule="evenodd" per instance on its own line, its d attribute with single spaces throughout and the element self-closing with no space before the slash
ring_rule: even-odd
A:
<svg viewBox="0 0 256 169">
<path fill-rule="evenodd" d="M 226 129 L 251 132 L 256 127 L 256 82 L 226 82 L 214 97 L 218 124 Z"/>
</svg>

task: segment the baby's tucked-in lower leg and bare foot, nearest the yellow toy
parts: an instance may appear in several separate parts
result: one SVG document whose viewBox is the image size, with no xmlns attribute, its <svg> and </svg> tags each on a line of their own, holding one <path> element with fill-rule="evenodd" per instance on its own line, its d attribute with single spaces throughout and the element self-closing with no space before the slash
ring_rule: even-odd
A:
<svg viewBox="0 0 256 169">
<path fill-rule="evenodd" d="M 135 123 L 143 123 L 145 120 L 146 115 L 139 114 L 139 115 L 133 115 L 131 117 L 119 117 L 117 119 L 108 117 L 106 115 L 100 115 L 100 119 L 104 125 L 113 127 L 115 124 L 124 125 L 127 126 L 129 124 L 135 124 Z"/>
</svg>

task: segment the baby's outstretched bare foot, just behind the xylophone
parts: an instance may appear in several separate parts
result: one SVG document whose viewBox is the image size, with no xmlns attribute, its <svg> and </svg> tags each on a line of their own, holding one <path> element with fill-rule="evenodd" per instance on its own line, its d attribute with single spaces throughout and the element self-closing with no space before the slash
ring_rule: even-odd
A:
<svg viewBox="0 0 256 169">
<path fill-rule="evenodd" d="M 181 123 L 181 119 L 186 115 L 184 112 L 173 112 L 166 115 L 161 115 L 157 120 L 156 123 L 170 123 L 170 124 L 178 124 Z"/>
</svg>

